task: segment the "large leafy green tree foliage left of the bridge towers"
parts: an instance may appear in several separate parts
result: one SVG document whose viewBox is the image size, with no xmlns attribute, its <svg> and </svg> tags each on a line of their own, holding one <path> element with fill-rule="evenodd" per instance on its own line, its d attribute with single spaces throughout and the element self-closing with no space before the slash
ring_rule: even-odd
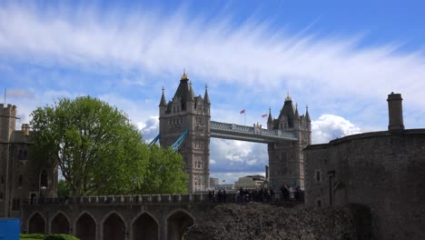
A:
<svg viewBox="0 0 425 240">
<path fill-rule="evenodd" d="M 176 193 L 186 187 L 182 157 L 143 144 L 142 135 L 116 107 L 90 96 L 62 98 L 38 107 L 32 116 L 33 154 L 57 161 L 74 196 Z M 152 167 L 165 169 L 157 172 L 163 173 L 162 180 Z M 147 186 L 151 177 L 163 188 Z"/>
</svg>

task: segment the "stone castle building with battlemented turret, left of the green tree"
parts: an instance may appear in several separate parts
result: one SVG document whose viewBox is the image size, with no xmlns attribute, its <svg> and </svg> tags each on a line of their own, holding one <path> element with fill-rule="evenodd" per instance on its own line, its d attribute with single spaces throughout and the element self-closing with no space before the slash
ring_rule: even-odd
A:
<svg viewBox="0 0 425 240">
<path fill-rule="evenodd" d="M 16 106 L 0 104 L 0 217 L 19 217 L 28 199 L 54 196 L 57 167 L 30 155 L 28 124 L 15 130 Z"/>
</svg>

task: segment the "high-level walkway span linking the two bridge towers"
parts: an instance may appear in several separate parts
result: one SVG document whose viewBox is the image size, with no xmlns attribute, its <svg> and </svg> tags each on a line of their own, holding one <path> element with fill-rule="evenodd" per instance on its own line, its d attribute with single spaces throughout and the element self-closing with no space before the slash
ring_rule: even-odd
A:
<svg viewBox="0 0 425 240">
<path fill-rule="evenodd" d="M 282 141 L 298 140 L 295 132 L 264 129 L 261 125 L 234 125 L 211 121 L 210 129 L 212 137 L 254 143 L 270 144 Z"/>
</svg>

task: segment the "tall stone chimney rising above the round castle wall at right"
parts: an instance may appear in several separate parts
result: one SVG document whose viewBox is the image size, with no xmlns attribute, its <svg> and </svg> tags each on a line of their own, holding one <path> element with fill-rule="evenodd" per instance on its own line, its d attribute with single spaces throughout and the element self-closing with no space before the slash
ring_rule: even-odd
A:
<svg viewBox="0 0 425 240">
<path fill-rule="evenodd" d="M 404 130 L 402 101 L 403 99 L 400 94 L 394 94 L 394 92 L 391 92 L 391 94 L 388 95 L 389 131 Z"/>
</svg>

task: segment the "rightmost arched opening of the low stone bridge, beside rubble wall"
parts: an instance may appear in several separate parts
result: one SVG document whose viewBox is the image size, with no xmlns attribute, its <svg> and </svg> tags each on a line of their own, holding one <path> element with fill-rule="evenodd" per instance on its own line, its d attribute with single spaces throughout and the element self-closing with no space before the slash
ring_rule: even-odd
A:
<svg viewBox="0 0 425 240">
<path fill-rule="evenodd" d="M 194 220 L 190 215 L 179 211 L 168 217 L 168 239 L 180 240 L 187 228 L 193 225 Z"/>
</svg>

